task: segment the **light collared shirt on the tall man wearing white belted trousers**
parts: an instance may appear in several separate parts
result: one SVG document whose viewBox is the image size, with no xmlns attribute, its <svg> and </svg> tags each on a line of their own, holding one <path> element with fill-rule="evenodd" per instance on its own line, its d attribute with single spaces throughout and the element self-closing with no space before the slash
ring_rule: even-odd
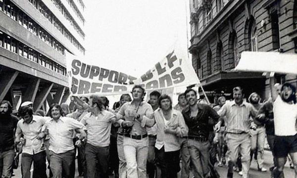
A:
<svg viewBox="0 0 297 178">
<path fill-rule="evenodd" d="M 139 122 L 137 119 L 129 117 L 128 115 L 129 110 L 133 110 L 137 112 L 138 114 L 140 114 L 140 117 L 147 116 L 148 118 L 151 118 L 153 111 L 150 104 L 148 104 L 147 102 L 141 102 L 139 106 L 135 106 L 133 101 L 126 102 L 125 104 L 123 104 L 119 112 L 116 114 L 117 118 L 124 118 L 125 121 L 134 122 L 132 131 L 130 132 L 130 134 L 132 135 L 147 134 L 146 126 L 151 127 L 150 125 L 146 124 L 146 120 L 148 118 L 143 117 L 142 122 Z"/>
</svg>

